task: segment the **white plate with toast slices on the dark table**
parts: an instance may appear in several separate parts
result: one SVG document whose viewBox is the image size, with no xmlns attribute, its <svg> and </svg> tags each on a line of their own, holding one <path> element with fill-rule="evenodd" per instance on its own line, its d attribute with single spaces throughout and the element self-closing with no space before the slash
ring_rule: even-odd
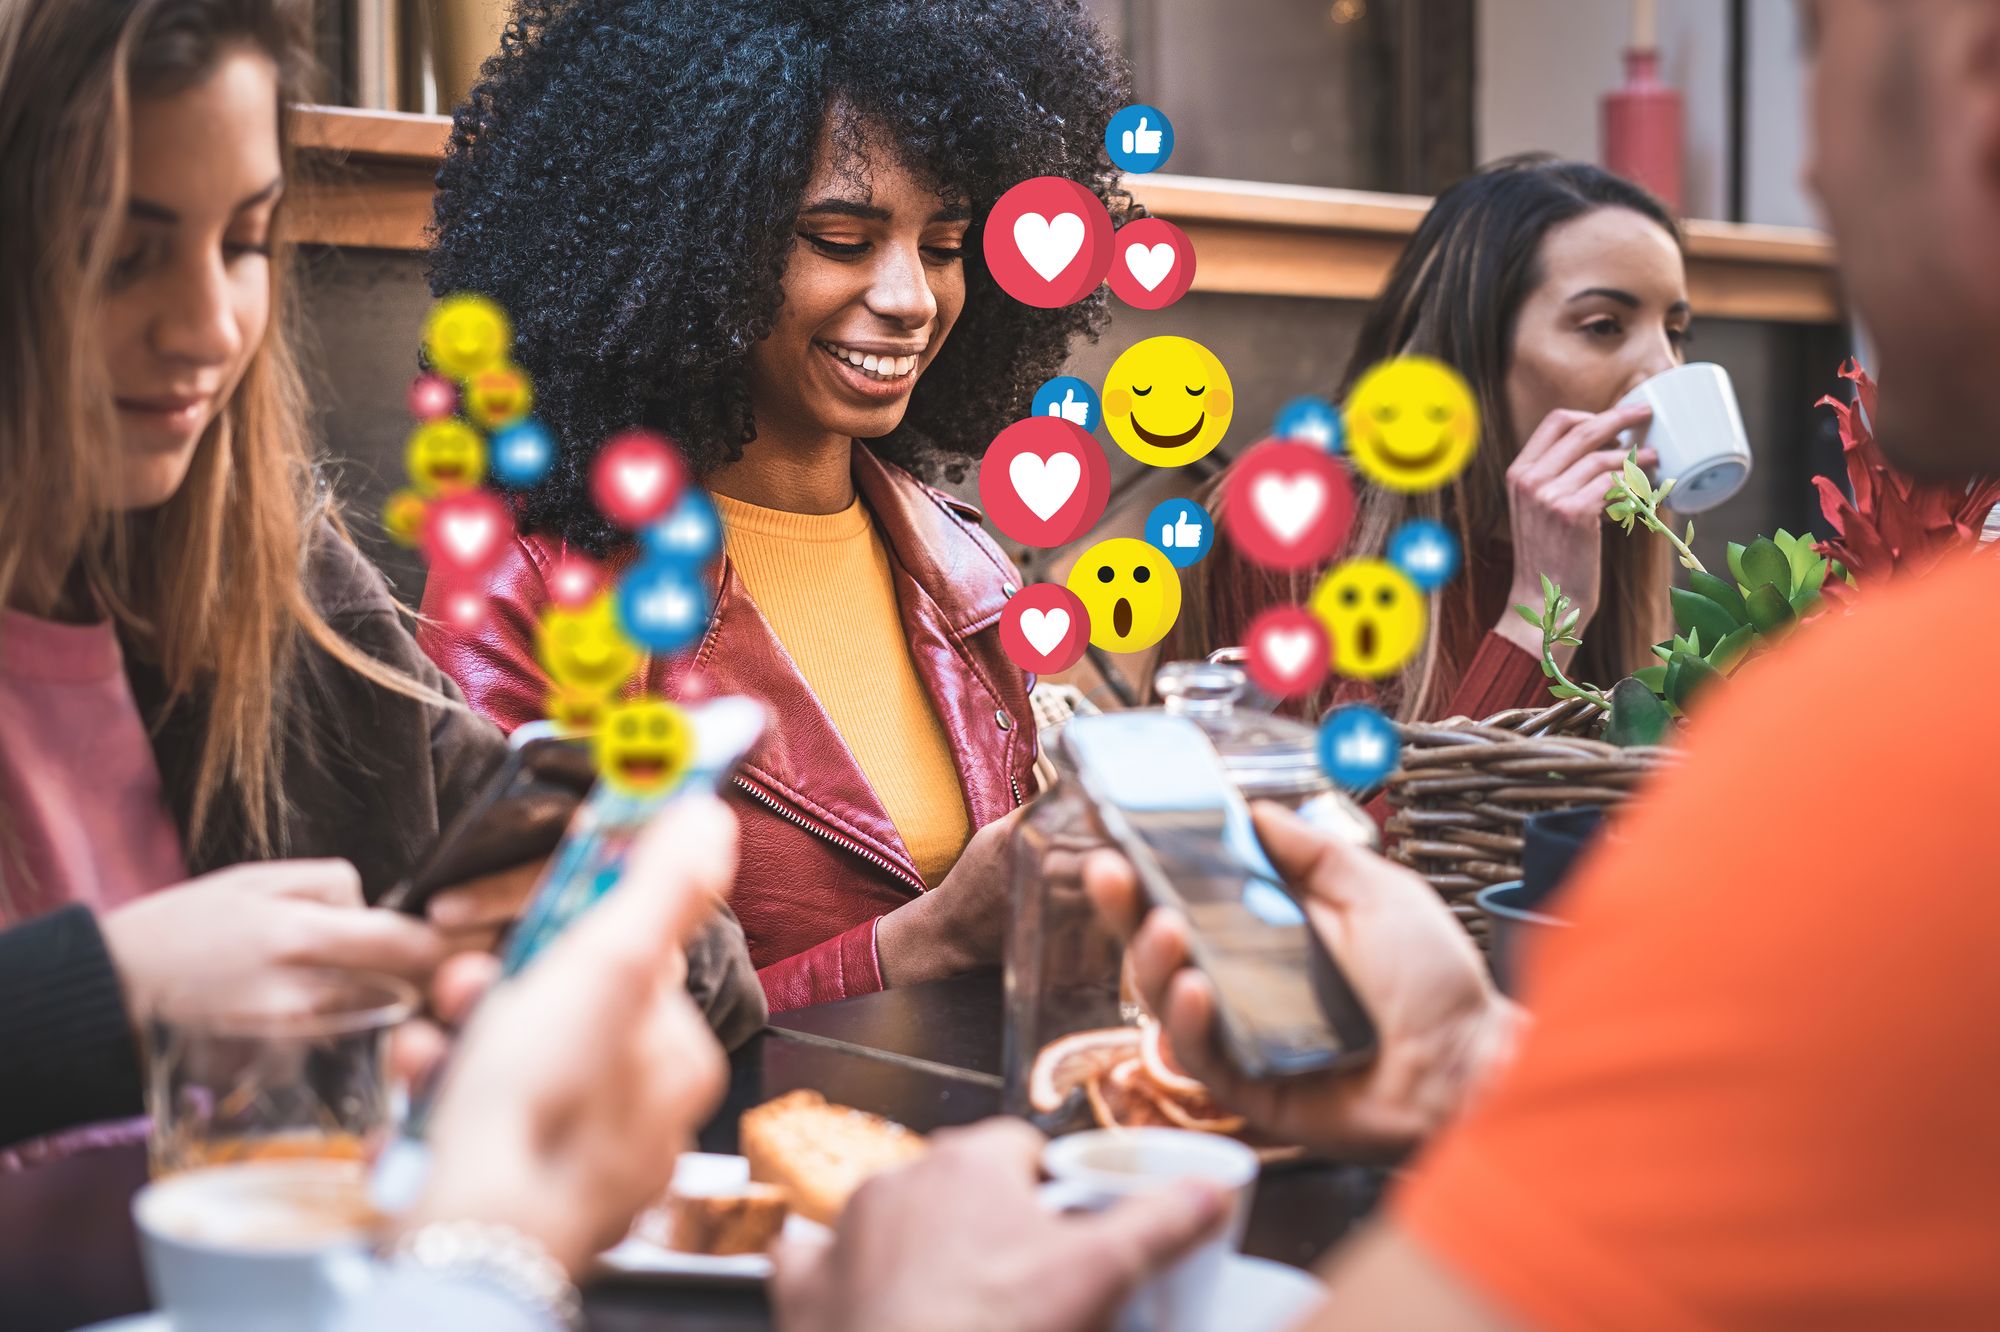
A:
<svg viewBox="0 0 2000 1332">
<path fill-rule="evenodd" d="M 762 1284 L 780 1236 L 826 1234 L 854 1190 L 924 1154 L 922 1134 L 818 1092 L 746 1110 L 738 1140 L 742 1156 L 682 1154 L 666 1198 L 598 1264 L 674 1284 Z"/>
</svg>

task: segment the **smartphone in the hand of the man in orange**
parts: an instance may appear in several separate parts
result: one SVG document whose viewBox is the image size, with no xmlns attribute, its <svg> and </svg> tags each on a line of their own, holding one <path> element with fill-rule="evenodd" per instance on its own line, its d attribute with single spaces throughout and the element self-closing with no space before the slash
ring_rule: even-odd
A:
<svg viewBox="0 0 2000 1332">
<path fill-rule="evenodd" d="M 1222 1048 L 1244 1076 L 1374 1058 L 1368 1010 L 1264 856 L 1250 806 L 1200 726 L 1162 712 L 1076 716 L 1056 744 L 1146 900 L 1188 920 Z"/>
</svg>

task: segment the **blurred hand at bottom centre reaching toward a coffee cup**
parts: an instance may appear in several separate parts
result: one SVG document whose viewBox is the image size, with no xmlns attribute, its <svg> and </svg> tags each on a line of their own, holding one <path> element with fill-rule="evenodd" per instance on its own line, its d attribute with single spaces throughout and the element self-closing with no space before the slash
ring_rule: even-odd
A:
<svg viewBox="0 0 2000 1332">
<path fill-rule="evenodd" d="M 1086 1332 L 1142 1280 L 1224 1224 L 1228 1198 L 1188 1182 L 1092 1216 L 1036 1200 L 1042 1136 L 990 1120 L 932 1138 L 924 1160 L 870 1180 L 832 1238 L 782 1240 L 772 1300 L 784 1332 Z"/>
</svg>

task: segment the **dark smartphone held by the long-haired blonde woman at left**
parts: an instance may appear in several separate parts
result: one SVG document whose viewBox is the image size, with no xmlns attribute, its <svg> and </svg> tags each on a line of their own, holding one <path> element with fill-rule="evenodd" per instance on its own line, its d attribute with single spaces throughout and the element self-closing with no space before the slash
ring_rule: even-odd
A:
<svg viewBox="0 0 2000 1332">
<path fill-rule="evenodd" d="M 460 810 L 416 874 L 390 888 L 378 906 L 422 916 L 446 888 L 548 858 L 596 780 L 584 738 L 554 722 L 522 726 L 480 794 Z"/>
</svg>

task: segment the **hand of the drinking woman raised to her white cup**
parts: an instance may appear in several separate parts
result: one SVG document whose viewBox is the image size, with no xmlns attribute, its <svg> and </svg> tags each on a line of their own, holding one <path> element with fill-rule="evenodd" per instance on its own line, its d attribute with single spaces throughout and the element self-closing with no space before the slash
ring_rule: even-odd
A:
<svg viewBox="0 0 2000 1332">
<path fill-rule="evenodd" d="M 1652 408 L 1644 404 L 1596 416 L 1550 412 L 1506 470 L 1508 514 L 1514 524 L 1514 586 L 1494 632 L 1536 660 L 1542 656 L 1542 634 L 1514 614 L 1514 606 L 1540 606 L 1542 574 L 1548 574 L 1582 612 L 1576 628 L 1590 624 L 1604 584 L 1598 536 L 1604 526 L 1604 492 L 1626 460 L 1618 432 L 1650 416 Z M 1650 448 L 1638 452 L 1640 466 L 1652 466 L 1656 460 Z M 1570 654 L 1570 648 L 1558 648 L 1556 664 L 1568 666 Z"/>
</svg>

